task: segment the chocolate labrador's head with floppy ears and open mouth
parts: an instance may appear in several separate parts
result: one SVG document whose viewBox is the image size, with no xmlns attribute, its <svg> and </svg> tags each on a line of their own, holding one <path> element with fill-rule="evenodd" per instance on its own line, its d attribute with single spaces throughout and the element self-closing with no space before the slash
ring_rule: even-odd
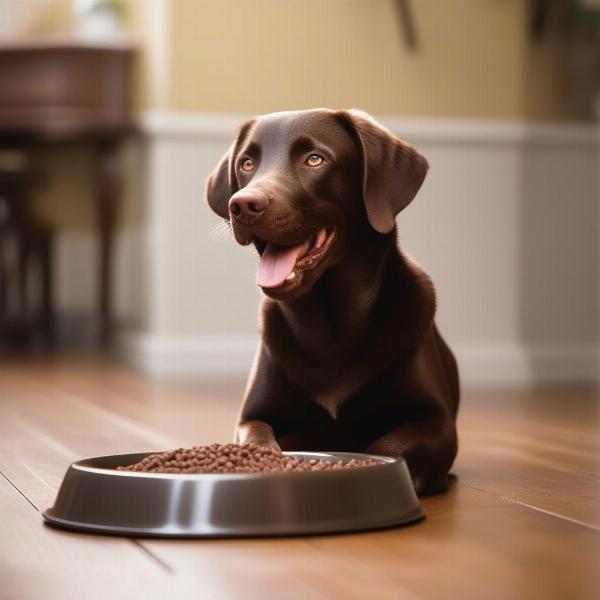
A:
<svg viewBox="0 0 600 600">
<path fill-rule="evenodd" d="M 365 228 L 392 232 L 427 167 L 366 113 L 274 113 L 242 126 L 206 198 L 238 243 L 256 246 L 257 284 L 289 299 L 309 291 Z"/>
</svg>

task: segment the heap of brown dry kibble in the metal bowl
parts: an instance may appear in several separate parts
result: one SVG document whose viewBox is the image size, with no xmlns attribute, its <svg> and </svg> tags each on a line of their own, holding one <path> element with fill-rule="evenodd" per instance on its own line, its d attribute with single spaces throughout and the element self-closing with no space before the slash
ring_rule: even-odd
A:
<svg viewBox="0 0 600 600">
<path fill-rule="evenodd" d="M 139 463 L 117 467 L 117 470 L 144 473 L 265 473 L 351 469 L 375 464 L 377 461 L 372 458 L 348 461 L 303 460 L 256 444 L 211 444 L 151 454 Z"/>
</svg>

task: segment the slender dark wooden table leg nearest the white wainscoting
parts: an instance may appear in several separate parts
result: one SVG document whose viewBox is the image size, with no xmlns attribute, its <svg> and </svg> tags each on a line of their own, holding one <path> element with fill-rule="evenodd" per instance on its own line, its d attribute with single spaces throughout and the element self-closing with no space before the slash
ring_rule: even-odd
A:
<svg viewBox="0 0 600 600">
<path fill-rule="evenodd" d="M 98 222 L 98 322 L 99 341 L 110 342 L 113 327 L 112 266 L 121 177 L 118 143 L 97 147 L 96 216 Z"/>
</svg>

